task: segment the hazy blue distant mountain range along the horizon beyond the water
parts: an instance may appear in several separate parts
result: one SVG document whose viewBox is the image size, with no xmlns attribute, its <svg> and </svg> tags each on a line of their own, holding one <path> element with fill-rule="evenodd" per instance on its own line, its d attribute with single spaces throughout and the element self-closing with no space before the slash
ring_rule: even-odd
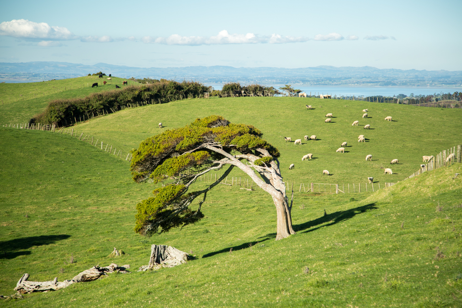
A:
<svg viewBox="0 0 462 308">
<path fill-rule="evenodd" d="M 2 80 L 43 80 L 73 78 L 104 72 L 122 78 L 193 79 L 207 84 L 240 82 L 243 84 L 309 84 L 355 86 L 462 86 L 462 71 L 426 71 L 378 69 L 372 66 L 279 67 L 131 67 L 106 63 L 83 65 L 68 62 L 0 63 Z"/>
</svg>

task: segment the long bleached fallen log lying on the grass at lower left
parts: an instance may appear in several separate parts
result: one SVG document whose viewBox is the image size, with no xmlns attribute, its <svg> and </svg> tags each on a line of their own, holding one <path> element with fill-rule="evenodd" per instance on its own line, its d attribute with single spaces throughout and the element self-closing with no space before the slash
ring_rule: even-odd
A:
<svg viewBox="0 0 462 308">
<path fill-rule="evenodd" d="M 74 278 L 64 280 L 63 282 L 59 282 L 57 277 L 55 277 L 53 281 L 27 281 L 29 274 L 26 273 L 23 275 L 23 277 L 21 277 L 21 279 L 19 279 L 14 290 L 21 294 L 48 290 L 60 290 L 71 284 L 93 281 L 102 278 L 102 276 L 107 275 L 108 273 L 120 272 L 122 274 L 126 274 L 129 273 L 129 271 L 127 271 L 129 268 L 129 265 L 118 266 L 115 263 L 105 267 L 99 267 L 97 265 L 79 273 Z"/>
</svg>

